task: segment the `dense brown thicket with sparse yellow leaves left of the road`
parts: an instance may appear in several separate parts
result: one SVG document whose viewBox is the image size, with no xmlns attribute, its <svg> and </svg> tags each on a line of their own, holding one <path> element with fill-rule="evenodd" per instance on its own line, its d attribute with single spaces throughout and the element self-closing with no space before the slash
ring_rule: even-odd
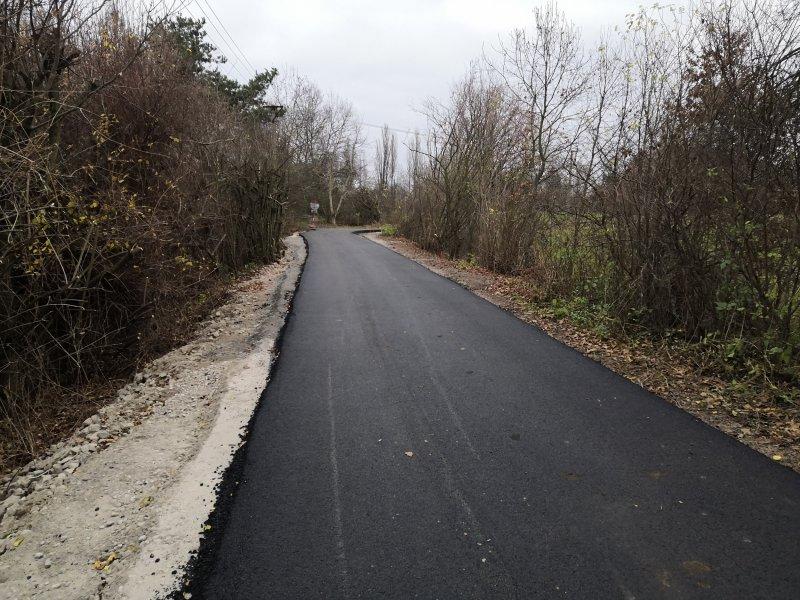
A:
<svg viewBox="0 0 800 600">
<path fill-rule="evenodd" d="M 239 84 L 220 60 L 191 19 L 0 5 L 3 467 L 180 339 L 221 281 L 280 255 L 276 73 Z"/>
</svg>

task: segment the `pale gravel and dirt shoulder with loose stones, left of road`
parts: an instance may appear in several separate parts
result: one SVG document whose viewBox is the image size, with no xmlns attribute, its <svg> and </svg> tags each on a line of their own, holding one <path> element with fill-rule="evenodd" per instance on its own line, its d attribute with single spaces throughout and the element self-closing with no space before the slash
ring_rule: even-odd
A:
<svg viewBox="0 0 800 600">
<path fill-rule="evenodd" d="M 238 285 L 70 439 L 0 481 L 0 598 L 159 597 L 197 549 L 306 256 Z"/>
</svg>

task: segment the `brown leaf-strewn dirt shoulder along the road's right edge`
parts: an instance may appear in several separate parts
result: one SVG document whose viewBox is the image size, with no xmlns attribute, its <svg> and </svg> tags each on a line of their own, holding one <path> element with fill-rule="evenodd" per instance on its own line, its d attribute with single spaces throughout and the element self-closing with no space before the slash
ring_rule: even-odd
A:
<svg viewBox="0 0 800 600">
<path fill-rule="evenodd" d="M 636 337 L 601 337 L 568 319 L 558 319 L 532 300 L 530 284 L 425 251 L 401 237 L 365 237 L 427 267 L 551 337 L 602 363 L 646 390 L 692 413 L 754 450 L 800 472 L 800 407 L 706 372 L 688 347 Z"/>
</svg>

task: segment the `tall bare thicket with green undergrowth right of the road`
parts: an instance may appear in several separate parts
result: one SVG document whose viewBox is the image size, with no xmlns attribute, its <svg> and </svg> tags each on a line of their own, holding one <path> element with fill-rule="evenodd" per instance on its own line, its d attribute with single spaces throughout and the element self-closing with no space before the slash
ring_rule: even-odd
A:
<svg viewBox="0 0 800 600">
<path fill-rule="evenodd" d="M 428 107 L 401 232 L 796 389 L 799 7 L 655 8 L 591 48 L 537 9 Z"/>
</svg>

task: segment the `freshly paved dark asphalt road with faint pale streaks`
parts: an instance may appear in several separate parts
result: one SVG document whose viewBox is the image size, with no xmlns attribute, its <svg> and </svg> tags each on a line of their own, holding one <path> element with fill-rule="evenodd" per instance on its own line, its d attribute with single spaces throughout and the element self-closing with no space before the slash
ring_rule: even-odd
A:
<svg viewBox="0 0 800 600">
<path fill-rule="evenodd" d="M 307 240 L 198 595 L 800 598 L 796 474 L 378 244 Z"/>
</svg>

